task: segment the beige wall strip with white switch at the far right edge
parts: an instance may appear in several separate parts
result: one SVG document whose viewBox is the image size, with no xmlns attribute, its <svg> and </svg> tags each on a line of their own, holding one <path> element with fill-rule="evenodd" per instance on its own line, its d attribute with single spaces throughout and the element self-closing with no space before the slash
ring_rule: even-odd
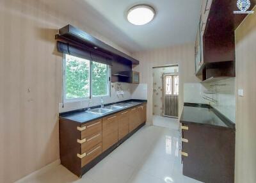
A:
<svg viewBox="0 0 256 183">
<path fill-rule="evenodd" d="M 256 8 L 254 8 L 256 12 Z M 236 29 L 236 183 L 256 182 L 256 13 Z"/>
</svg>

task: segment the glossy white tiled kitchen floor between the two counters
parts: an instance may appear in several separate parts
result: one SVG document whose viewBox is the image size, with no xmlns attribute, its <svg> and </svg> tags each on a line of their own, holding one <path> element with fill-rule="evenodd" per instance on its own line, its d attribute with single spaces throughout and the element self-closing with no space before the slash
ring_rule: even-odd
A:
<svg viewBox="0 0 256 183">
<path fill-rule="evenodd" d="M 179 131 L 145 126 L 78 179 L 55 166 L 20 182 L 33 183 L 197 183 L 182 175 Z"/>
</svg>

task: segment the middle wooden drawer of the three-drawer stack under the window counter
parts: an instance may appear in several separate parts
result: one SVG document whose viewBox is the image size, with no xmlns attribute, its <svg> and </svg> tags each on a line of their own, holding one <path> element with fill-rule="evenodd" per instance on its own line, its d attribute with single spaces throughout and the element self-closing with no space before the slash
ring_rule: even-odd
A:
<svg viewBox="0 0 256 183">
<path fill-rule="evenodd" d="M 85 141 L 81 143 L 82 154 L 87 150 L 90 150 L 90 148 L 102 142 L 102 133 L 100 132 L 99 134 L 93 134 L 92 136 L 88 136 L 88 138 L 85 138 L 84 140 Z"/>
</svg>

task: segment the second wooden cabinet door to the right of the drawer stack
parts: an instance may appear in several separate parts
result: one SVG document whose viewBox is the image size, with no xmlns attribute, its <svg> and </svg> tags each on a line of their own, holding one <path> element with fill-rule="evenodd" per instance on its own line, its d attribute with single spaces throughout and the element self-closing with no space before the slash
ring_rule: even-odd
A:
<svg viewBox="0 0 256 183">
<path fill-rule="evenodd" d="M 129 134 L 129 116 L 129 110 L 122 111 L 118 114 L 118 140 Z"/>
</svg>

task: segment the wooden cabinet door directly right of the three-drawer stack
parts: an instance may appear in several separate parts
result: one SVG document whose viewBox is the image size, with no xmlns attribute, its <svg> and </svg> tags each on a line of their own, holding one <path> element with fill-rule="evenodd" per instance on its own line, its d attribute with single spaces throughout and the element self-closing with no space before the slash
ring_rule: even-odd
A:
<svg viewBox="0 0 256 183">
<path fill-rule="evenodd" d="M 102 119 L 102 152 L 118 141 L 118 115 L 106 116 Z"/>
</svg>

